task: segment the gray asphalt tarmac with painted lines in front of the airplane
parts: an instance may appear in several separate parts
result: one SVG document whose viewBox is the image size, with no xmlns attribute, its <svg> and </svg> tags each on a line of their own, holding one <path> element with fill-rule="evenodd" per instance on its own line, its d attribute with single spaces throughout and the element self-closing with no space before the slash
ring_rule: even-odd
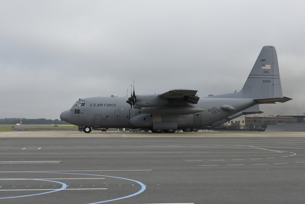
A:
<svg viewBox="0 0 305 204">
<path fill-rule="evenodd" d="M 0 203 L 304 203 L 303 132 L 0 132 Z"/>
</svg>

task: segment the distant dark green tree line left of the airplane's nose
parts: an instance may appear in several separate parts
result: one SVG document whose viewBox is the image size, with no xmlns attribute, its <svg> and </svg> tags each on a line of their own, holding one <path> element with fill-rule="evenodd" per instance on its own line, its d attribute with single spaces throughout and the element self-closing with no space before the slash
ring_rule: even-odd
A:
<svg viewBox="0 0 305 204">
<path fill-rule="evenodd" d="M 20 123 L 20 118 L 4 118 L 0 119 L 1 125 L 13 125 Z M 62 121 L 62 120 L 51 120 L 51 119 L 45 119 L 45 118 L 37 118 L 37 119 L 26 119 L 22 118 L 22 124 L 23 125 L 67 125 L 69 123 Z"/>
</svg>

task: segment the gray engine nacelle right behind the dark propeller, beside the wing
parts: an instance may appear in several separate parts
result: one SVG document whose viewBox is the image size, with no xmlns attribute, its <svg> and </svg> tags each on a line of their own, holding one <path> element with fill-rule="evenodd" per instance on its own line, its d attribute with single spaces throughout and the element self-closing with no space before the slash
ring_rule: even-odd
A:
<svg viewBox="0 0 305 204">
<path fill-rule="evenodd" d="M 167 104 L 169 101 L 157 94 L 136 95 L 136 105 L 138 107 L 155 107 Z"/>
</svg>

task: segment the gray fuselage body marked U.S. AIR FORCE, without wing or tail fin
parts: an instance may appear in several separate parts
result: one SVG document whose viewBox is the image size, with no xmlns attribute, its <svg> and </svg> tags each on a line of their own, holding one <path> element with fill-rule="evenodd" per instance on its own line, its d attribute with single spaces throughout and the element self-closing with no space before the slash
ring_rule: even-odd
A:
<svg viewBox="0 0 305 204">
<path fill-rule="evenodd" d="M 126 99 L 126 97 L 83 98 L 80 101 L 84 101 L 84 106 L 73 106 L 63 112 L 61 118 L 71 124 L 93 128 L 152 128 L 154 115 L 142 113 L 141 109 L 131 109 Z M 229 112 L 227 106 L 224 106 L 226 105 L 224 101 L 236 110 Z M 253 99 L 200 98 L 197 104 L 190 106 L 205 111 L 188 115 L 162 115 L 160 122 L 178 121 L 176 129 L 200 128 L 221 121 L 255 104 L 257 102 Z"/>
</svg>

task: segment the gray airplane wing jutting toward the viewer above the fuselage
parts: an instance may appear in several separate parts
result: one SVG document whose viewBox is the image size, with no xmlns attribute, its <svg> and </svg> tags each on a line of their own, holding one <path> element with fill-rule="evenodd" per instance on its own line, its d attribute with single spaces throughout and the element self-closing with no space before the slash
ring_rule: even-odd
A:
<svg viewBox="0 0 305 204">
<path fill-rule="evenodd" d="M 199 100 L 199 97 L 196 96 L 196 93 L 197 91 L 190 89 L 175 89 L 167 91 L 163 94 L 159 94 L 159 97 L 167 99 L 183 99 L 184 101 L 195 104 Z"/>
</svg>

